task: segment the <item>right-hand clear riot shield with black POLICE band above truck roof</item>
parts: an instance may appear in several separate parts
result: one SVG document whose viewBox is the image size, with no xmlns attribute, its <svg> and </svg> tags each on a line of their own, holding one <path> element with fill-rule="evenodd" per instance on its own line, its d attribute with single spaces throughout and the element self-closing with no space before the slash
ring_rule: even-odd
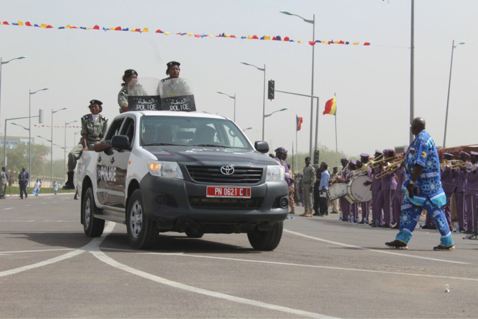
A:
<svg viewBox="0 0 478 319">
<path fill-rule="evenodd" d="M 193 86 L 188 79 L 165 79 L 159 83 L 162 111 L 196 111 Z"/>
</svg>

